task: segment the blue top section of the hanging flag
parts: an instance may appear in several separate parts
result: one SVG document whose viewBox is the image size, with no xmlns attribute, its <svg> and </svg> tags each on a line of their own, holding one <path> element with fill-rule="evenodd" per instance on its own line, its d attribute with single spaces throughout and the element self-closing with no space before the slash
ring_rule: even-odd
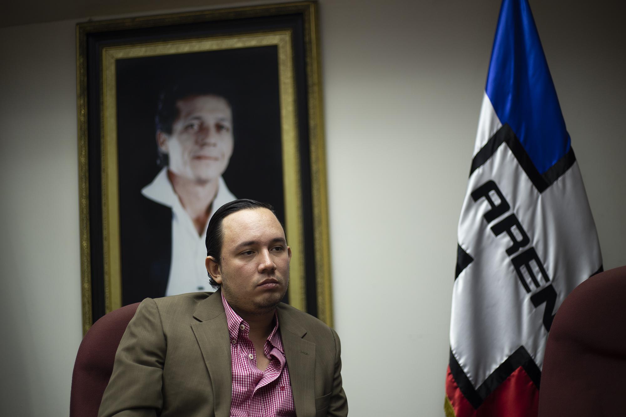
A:
<svg viewBox="0 0 626 417">
<path fill-rule="evenodd" d="M 491 52 L 486 93 L 543 174 L 570 149 L 528 0 L 504 0 Z"/>
</svg>

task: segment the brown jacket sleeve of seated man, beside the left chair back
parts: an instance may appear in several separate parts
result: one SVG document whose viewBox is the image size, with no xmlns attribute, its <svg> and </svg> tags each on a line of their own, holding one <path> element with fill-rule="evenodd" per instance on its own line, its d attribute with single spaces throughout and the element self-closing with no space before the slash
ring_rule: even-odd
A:
<svg viewBox="0 0 626 417">
<path fill-rule="evenodd" d="M 121 338 L 98 417 L 159 414 L 166 351 L 158 307 L 153 299 L 145 299 Z"/>
</svg>

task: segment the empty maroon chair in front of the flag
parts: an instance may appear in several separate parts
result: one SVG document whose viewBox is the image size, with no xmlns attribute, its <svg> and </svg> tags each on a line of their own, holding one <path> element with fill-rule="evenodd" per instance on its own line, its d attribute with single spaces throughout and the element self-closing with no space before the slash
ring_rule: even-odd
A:
<svg viewBox="0 0 626 417">
<path fill-rule="evenodd" d="M 546 344 L 539 417 L 623 416 L 626 266 L 594 275 L 558 309 Z"/>
</svg>

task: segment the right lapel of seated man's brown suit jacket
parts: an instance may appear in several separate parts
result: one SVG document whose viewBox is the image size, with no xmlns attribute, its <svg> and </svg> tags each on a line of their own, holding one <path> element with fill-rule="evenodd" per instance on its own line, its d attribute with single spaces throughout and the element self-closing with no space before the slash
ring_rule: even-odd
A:
<svg viewBox="0 0 626 417">
<path fill-rule="evenodd" d="M 315 343 L 302 339 L 307 333 L 289 311 L 277 309 L 280 336 L 285 349 L 289 380 L 298 416 L 315 415 Z"/>
</svg>

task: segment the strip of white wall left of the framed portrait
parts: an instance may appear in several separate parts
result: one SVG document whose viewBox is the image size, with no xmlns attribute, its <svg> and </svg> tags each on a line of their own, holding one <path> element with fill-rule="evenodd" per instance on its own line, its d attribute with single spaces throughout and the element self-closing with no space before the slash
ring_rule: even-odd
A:
<svg viewBox="0 0 626 417">
<path fill-rule="evenodd" d="M 71 22 L 0 30 L 0 415 L 63 416 L 81 332 Z"/>
</svg>

